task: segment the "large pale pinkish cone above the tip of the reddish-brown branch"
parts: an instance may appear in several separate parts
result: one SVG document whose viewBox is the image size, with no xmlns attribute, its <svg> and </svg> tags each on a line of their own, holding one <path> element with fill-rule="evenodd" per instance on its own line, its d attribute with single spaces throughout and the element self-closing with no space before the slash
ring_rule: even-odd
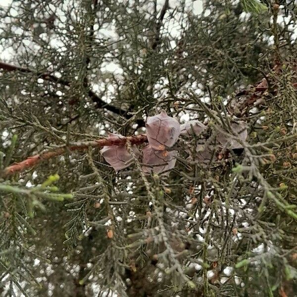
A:
<svg viewBox="0 0 297 297">
<path fill-rule="evenodd" d="M 179 122 L 168 116 L 164 110 L 157 115 L 149 116 L 146 128 L 150 147 L 158 150 L 172 147 L 181 133 Z"/>
</svg>

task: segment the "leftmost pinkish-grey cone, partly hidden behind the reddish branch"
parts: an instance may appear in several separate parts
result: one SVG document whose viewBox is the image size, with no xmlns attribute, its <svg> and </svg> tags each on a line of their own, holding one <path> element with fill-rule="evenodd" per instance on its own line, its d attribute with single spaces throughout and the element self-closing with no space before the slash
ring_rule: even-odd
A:
<svg viewBox="0 0 297 297">
<path fill-rule="evenodd" d="M 116 138 L 124 138 L 119 134 L 110 134 L 108 139 L 115 140 Z M 132 148 L 136 154 L 139 154 L 137 147 Z M 112 166 L 115 171 L 119 171 L 130 166 L 133 163 L 133 157 L 128 152 L 125 145 L 122 146 L 107 146 L 100 149 L 100 153 L 105 161 Z"/>
</svg>

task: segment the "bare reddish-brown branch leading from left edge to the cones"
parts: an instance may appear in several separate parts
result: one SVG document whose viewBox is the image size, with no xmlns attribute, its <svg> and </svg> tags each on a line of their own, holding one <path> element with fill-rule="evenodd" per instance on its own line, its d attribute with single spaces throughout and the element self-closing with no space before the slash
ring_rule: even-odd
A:
<svg viewBox="0 0 297 297">
<path fill-rule="evenodd" d="M 54 150 L 45 151 L 40 154 L 36 154 L 34 156 L 28 157 L 26 160 L 21 161 L 19 163 L 12 164 L 6 168 L 4 168 L 3 172 L 0 174 L 2 177 L 9 176 L 11 174 L 22 172 L 28 168 L 31 168 L 44 160 L 51 159 L 58 155 L 63 154 L 64 152 L 70 150 L 85 150 L 87 148 L 100 148 L 104 146 L 120 146 L 125 145 L 126 142 L 129 141 L 133 145 L 140 145 L 143 143 L 148 142 L 148 138 L 146 135 L 138 135 L 138 136 L 128 136 L 124 138 L 118 137 L 108 137 L 105 139 L 99 139 L 95 141 L 88 141 L 88 142 L 81 142 L 81 143 L 74 143 L 69 147 L 61 147 L 56 148 Z"/>
</svg>

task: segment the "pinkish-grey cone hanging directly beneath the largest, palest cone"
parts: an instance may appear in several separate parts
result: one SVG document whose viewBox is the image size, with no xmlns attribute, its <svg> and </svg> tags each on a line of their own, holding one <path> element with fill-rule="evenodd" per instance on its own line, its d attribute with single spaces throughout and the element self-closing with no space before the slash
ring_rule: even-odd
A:
<svg viewBox="0 0 297 297">
<path fill-rule="evenodd" d="M 143 166 L 145 173 L 162 173 L 175 166 L 177 151 L 156 150 L 150 145 L 143 148 Z"/>
</svg>

